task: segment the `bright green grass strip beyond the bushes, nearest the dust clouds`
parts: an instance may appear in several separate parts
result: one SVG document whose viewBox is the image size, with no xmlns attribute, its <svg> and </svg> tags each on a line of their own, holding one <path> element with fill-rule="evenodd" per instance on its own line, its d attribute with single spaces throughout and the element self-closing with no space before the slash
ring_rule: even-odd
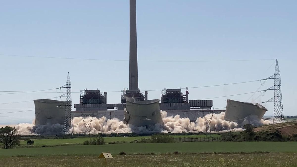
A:
<svg viewBox="0 0 297 167">
<path fill-rule="evenodd" d="M 220 137 L 220 135 L 211 135 L 212 137 Z M 172 136 L 174 138 L 183 138 L 183 137 L 198 137 L 204 138 L 205 135 L 187 135 L 187 136 Z M 130 142 L 135 140 L 140 140 L 141 138 L 150 138 L 150 136 L 138 136 L 138 137 L 105 137 L 107 143 L 110 142 Z M 59 146 L 59 145 L 74 145 L 74 144 L 83 144 L 84 141 L 89 140 L 90 138 L 63 138 L 63 139 L 32 139 L 34 140 L 33 146 Z M 26 141 L 20 141 L 21 146 L 26 146 Z"/>
</svg>

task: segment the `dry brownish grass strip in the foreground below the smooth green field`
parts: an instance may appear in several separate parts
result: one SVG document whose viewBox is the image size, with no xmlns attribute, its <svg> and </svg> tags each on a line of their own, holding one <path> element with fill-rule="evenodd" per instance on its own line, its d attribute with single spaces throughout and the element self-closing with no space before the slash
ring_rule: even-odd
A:
<svg viewBox="0 0 297 167">
<path fill-rule="evenodd" d="M 198 155 L 113 155 L 107 166 L 190 166 L 190 167 L 290 167 L 297 164 L 295 153 L 198 154 Z M 0 166 L 102 166 L 97 156 L 36 156 L 0 158 Z"/>
</svg>

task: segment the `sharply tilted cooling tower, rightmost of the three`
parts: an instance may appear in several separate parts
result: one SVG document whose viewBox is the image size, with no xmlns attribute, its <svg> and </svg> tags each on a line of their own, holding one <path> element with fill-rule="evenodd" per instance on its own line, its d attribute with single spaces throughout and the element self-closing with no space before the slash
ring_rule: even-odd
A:
<svg viewBox="0 0 297 167">
<path fill-rule="evenodd" d="M 254 115 L 257 121 L 260 121 L 266 111 L 267 109 L 258 103 L 244 103 L 228 99 L 224 120 L 240 124 L 245 117 Z"/>
</svg>

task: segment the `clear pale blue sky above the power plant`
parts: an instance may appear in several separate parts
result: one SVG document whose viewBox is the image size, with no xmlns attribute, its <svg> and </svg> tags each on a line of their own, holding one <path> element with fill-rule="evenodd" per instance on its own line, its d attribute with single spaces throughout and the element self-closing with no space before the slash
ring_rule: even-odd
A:
<svg viewBox="0 0 297 167">
<path fill-rule="evenodd" d="M 138 60 L 278 59 L 285 115 L 296 113 L 296 1 L 137 1 Z M 129 1 L 2 1 L 0 54 L 85 59 L 129 58 Z M 128 87 L 129 62 L 1 56 L 1 91 L 36 91 L 65 84 L 72 91 L 120 91 Z M 274 74 L 274 60 L 249 62 L 139 62 L 141 90 L 195 87 L 252 81 Z M 254 92 L 260 82 L 197 88 L 189 99 Z M 267 81 L 261 89 L 274 84 Z M 161 91 L 149 92 L 159 99 Z M 61 93 L 0 95 L 2 103 L 56 97 Z M 246 101 L 251 94 L 215 98 Z M 257 93 L 253 96 L 256 98 Z M 266 92 L 256 101 L 273 97 Z M 59 100 L 59 98 L 57 98 Z M 63 100 L 63 99 L 62 99 Z M 72 94 L 79 103 L 79 94 Z M 120 103 L 120 93 L 108 93 Z M 267 103 L 266 115 L 273 114 Z M 34 102 L 1 104 L 0 108 L 34 108 Z M 21 111 L 1 110 L 0 112 Z M 0 114 L 35 116 L 34 111 Z M 30 122 L 4 118 L 0 123 Z"/>
</svg>

